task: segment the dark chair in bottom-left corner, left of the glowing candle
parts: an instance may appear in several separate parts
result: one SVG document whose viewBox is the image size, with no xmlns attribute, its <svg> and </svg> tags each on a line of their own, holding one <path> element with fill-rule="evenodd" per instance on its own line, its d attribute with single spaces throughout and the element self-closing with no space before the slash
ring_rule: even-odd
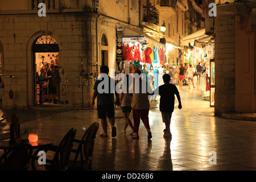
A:
<svg viewBox="0 0 256 182">
<path fill-rule="evenodd" d="M 0 158 L 1 171 L 27 171 L 30 164 L 32 147 L 30 144 L 18 144 Z"/>
</svg>

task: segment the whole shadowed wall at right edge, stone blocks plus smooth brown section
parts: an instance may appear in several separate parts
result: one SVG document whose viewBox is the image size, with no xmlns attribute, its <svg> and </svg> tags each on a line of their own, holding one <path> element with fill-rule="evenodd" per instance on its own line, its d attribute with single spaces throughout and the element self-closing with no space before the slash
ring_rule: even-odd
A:
<svg viewBox="0 0 256 182">
<path fill-rule="evenodd" d="M 255 3 L 217 6 L 215 114 L 256 111 Z"/>
</svg>

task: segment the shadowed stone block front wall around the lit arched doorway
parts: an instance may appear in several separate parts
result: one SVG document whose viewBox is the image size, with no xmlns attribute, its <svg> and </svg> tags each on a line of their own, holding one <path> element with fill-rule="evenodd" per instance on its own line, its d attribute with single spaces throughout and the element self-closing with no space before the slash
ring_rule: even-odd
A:
<svg viewBox="0 0 256 182">
<path fill-rule="evenodd" d="M 85 72 L 96 72 L 96 46 L 93 46 L 96 44 L 96 20 L 93 14 L 0 15 L 0 19 L 1 52 L 4 55 L 2 78 L 5 82 L 3 104 L 11 107 L 35 104 L 32 44 L 39 36 L 47 34 L 57 40 L 60 48 L 60 66 L 64 70 L 62 82 L 68 78 L 66 94 L 61 100 L 69 101 L 69 104 L 63 106 L 81 106 L 77 70 L 82 62 Z M 7 78 L 8 75 L 15 78 Z M 89 80 L 89 85 L 84 86 L 86 106 L 90 102 L 92 83 Z M 13 100 L 9 99 L 9 90 L 14 92 Z"/>
</svg>

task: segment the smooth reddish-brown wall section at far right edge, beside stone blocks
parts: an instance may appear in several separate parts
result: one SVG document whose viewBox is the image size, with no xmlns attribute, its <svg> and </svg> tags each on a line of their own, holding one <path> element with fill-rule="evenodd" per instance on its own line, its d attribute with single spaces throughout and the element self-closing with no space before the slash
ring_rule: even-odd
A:
<svg viewBox="0 0 256 182">
<path fill-rule="evenodd" d="M 255 32 L 251 32 L 251 14 L 238 16 L 236 22 L 236 111 L 255 113 Z M 237 19 L 238 19 L 237 17 Z"/>
</svg>

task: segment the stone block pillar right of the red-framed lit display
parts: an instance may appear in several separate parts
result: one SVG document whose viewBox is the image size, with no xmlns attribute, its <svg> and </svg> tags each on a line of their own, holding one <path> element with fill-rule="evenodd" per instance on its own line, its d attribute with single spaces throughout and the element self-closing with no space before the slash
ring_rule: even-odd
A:
<svg viewBox="0 0 256 182">
<path fill-rule="evenodd" d="M 235 111 L 236 62 L 234 15 L 220 15 L 215 23 L 215 114 Z"/>
</svg>

